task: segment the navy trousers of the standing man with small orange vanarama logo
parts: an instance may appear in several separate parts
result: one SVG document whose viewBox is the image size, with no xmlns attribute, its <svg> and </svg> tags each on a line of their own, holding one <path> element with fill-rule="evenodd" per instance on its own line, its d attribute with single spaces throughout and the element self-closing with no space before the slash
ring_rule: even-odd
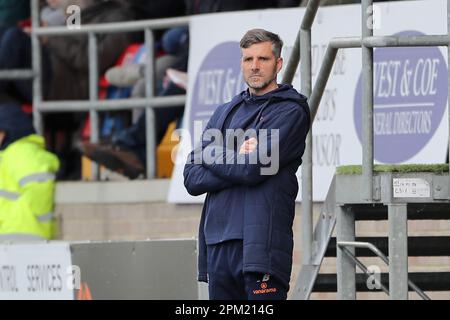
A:
<svg viewBox="0 0 450 320">
<path fill-rule="evenodd" d="M 286 300 L 286 288 L 272 275 L 243 272 L 242 240 L 208 246 L 210 300 Z"/>
</svg>

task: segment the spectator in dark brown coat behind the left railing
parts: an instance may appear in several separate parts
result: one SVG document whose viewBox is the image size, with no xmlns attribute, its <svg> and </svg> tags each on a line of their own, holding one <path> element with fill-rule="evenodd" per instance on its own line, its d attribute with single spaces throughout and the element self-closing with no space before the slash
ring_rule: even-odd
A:
<svg viewBox="0 0 450 320">
<path fill-rule="evenodd" d="M 136 17 L 127 5 L 118 1 L 62 0 L 65 6 L 81 7 L 81 24 L 132 21 Z M 122 52 L 135 42 L 133 33 L 107 33 L 97 35 L 98 70 L 103 74 L 113 66 Z M 89 57 L 87 35 L 49 37 L 46 44 L 51 76 L 46 100 L 89 99 Z M 43 64 L 45 65 L 45 63 Z M 45 115 L 49 132 L 49 148 L 61 159 L 58 179 L 81 177 L 80 154 L 72 141 L 81 130 L 85 114 L 52 113 Z"/>
</svg>

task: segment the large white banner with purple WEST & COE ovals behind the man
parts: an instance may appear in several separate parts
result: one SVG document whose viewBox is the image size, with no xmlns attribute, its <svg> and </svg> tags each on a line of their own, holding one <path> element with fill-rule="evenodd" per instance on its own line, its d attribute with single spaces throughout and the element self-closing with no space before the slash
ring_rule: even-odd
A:
<svg viewBox="0 0 450 320">
<path fill-rule="evenodd" d="M 374 35 L 446 34 L 446 1 L 383 2 L 374 8 Z M 215 108 L 246 88 L 239 40 L 252 28 L 278 33 L 285 66 L 305 10 L 274 9 L 194 17 L 190 25 L 189 90 L 183 128 L 206 122 Z M 327 45 L 335 37 L 361 35 L 361 6 L 321 7 L 312 28 L 313 85 Z M 447 52 L 444 47 L 374 50 L 374 157 L 376 163 L 443 163 L 448 145 Z M 282 73 L 279 76 L 281 81 Z M 297 71 L 294 87 L 299 90 Z M 361 50 L 341 49 L 313 125 L 313 199 L 326 197 L 337 166 L 361 164 Z M 183 185 L 192 149 L 182 139 L 168 201 L 200 203 Z M 301 186 L 301 169 L 297 173 Z M 298 193 L 301 201 L 301 190 Z"/>
</svg>

